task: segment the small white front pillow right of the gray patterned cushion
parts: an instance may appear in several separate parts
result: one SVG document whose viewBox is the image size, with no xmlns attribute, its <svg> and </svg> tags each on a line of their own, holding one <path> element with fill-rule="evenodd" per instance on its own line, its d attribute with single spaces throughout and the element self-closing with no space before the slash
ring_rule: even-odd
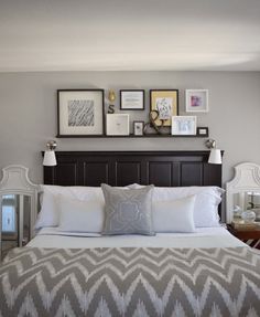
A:
<svg viewBox="0 0 260 317">
<path fill-rule="evenodd" d="M 152 205 L 155 232 L 195 232 L 194 205 L 196 196 L 176 200 L 155 201 Z"/>
</svg>

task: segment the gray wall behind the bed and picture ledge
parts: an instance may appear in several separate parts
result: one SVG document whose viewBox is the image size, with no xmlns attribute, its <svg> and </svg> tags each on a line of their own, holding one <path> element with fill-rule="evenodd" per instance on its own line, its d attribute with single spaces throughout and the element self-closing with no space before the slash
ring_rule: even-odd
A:
<svg viewBox="0 0 260 317">
<path fill-rule="evenodd" d="M 209 113 L 198 116 L 225 150 L 224 182 L 242 161 L 260 163 L 260 72 L 53 72 L 0 74 L 0 168 L 21 163 L 34 182 L 42 182 L 41 151 L 56 135 L 56 89 L 180 89 L 185 114 L 185 88 L 209 89 Z M 106 99 L 107 102 L 107 99 Z M 140 118 L 143 112 L 132 113 Z M 58 150 L 204 150 L 203 138 L 57 139 Z"/>
</svg>

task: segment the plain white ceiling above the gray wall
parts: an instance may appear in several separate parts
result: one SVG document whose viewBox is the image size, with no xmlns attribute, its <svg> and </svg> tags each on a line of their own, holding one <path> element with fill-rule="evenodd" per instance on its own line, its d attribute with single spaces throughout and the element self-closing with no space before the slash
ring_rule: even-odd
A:
<svg viewBox="0 0 260 317">
<path fill-rule="evenodd" d="M 0 72 L 260 71 L 260 0 L 0 0 Z"/>
</svg>

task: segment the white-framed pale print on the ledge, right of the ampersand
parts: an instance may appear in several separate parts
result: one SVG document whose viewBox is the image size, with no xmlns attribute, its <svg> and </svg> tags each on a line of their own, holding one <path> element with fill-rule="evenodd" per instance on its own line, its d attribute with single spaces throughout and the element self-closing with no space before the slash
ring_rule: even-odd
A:
<svg viewBox="0 0 260 317">
<path fill-rule="evenodd" d="M 196 135 L 196 116 L 173 116 L 172 135 L 193 136 Z"/>
</svg>

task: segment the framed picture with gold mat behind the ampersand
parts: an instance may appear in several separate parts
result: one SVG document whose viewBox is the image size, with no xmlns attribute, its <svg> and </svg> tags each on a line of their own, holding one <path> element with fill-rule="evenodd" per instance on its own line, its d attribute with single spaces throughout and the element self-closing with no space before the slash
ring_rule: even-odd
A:
<svg viewBox="0 0 260 317">
<path fill-rule="evenodd" d="M 177 89 L 151 89 L 150 110 L 158 112 L 155 125 L 171 126 L 172 116 L 178 115 L 178 91 Z"/>
</svg>

